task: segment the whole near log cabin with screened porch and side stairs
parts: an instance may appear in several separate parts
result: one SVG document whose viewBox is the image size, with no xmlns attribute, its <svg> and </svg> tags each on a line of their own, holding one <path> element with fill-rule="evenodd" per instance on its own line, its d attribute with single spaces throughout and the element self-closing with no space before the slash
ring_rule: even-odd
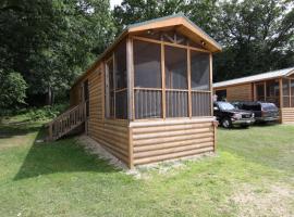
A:
<svg viewBox="0 0 294 217">
<path fill-rule="evenodd" d="M 216 150 L 212 53 L 221 47 L 182 14 L 130 25 L 75 81 L 59 139 L 79 125 L 130 168 Z"/>
</svg>

